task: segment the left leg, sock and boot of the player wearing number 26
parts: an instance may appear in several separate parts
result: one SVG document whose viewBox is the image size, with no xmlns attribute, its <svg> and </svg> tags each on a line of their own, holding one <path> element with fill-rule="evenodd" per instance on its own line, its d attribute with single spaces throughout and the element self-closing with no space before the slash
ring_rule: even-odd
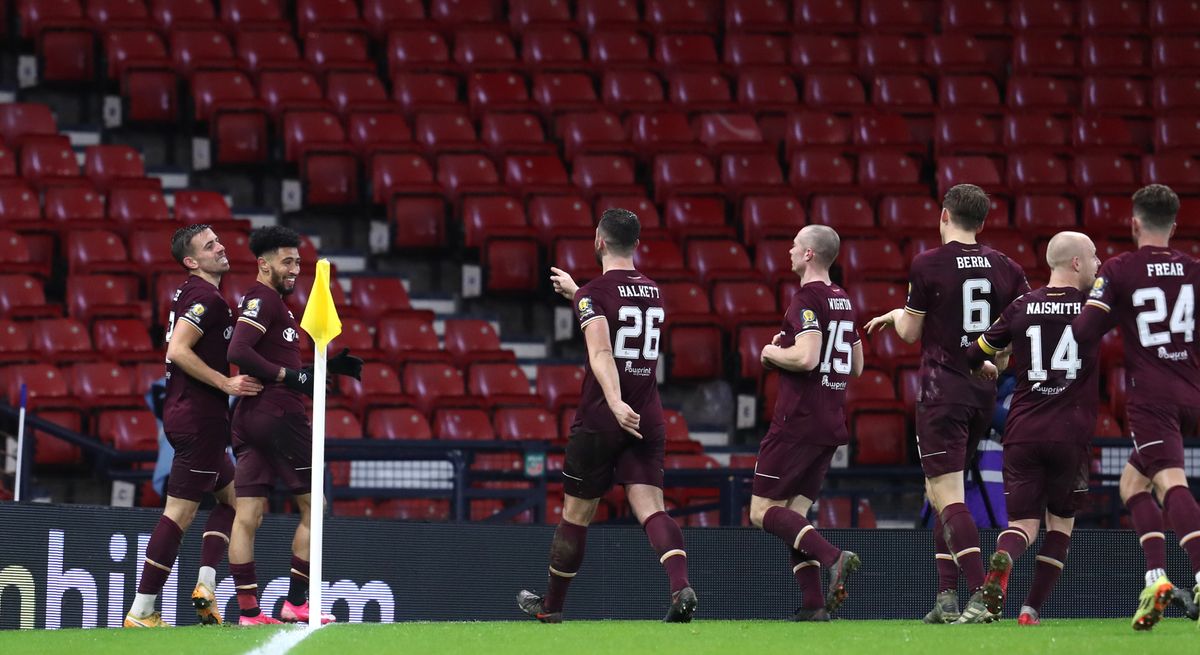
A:
<svg viewBox="0 0 1200 655">
<path fill-rule="evenodd" d="M 538 595 L 528 589 L 517 594 L 517 607 L 541 623 L 563 623 L 563 603 L 566 590 L 580 572 L 588 540 L 588 525 L 596 513 L 599 498 L 563 495 L 563 519 L 550 542 L 550 579 L 546 594 Z"/>
</svg>

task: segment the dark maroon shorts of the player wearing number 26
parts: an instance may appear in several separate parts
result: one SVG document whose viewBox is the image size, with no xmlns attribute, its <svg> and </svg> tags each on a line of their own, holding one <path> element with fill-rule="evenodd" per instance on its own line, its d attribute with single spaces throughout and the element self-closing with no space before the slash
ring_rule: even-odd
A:
<svg viewBox="0 0 1200 655">
<path fill-rule="evenodd" d="M 638 439 L 628 432 L 571 433 L 563 462 L 563 491 L 575 498 L 594 499 L 617 485 L 650 485 L 662 488 L 666 428 L 642 431 Z"/>
</svg>

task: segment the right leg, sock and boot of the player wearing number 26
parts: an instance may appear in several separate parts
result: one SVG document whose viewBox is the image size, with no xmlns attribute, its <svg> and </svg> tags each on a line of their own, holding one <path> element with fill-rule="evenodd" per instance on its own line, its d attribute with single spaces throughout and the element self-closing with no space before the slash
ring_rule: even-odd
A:
<svg viewBox="0 0 1200 655">
<path fill-rule="evenodd" d="M 625 485 L 625 498 L 671 581 L 671 608 L 662 620 L 691 621 L 697 600 L 688 582 L 688 552 L 684 549 L 683 530 L 666 512 L 662 489 L 653 485 Z"/>
</svg>

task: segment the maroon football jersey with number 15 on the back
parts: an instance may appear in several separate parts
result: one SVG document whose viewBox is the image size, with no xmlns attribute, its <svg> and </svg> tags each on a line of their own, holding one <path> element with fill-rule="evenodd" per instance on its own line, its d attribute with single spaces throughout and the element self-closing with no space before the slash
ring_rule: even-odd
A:
<svg viewBox="0 0 1200 655">
<path fill-rule="evenodd" d="M 780 348 L 791 348 L 805 332 L 821 335 L 821 363 L 812 371 L 780 371 L 775 414 L 768 439 L 797 439 L 814 445 L 850 443 L 846 431 L 846 385 L 859 343 L 857 316 L 836 284 L 809 282 L 792 296 L 784 314 Z"/>
</svg>

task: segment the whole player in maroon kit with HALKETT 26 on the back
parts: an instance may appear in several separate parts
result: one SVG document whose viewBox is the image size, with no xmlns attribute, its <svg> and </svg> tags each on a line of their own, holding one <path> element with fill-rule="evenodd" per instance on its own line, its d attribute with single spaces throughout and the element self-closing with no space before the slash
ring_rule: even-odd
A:
<svg viewBox="0 0 1200 655">
<path fill-rule="evenodd" d="M 588 524 L 613 483 L 625 487 L 671 581 L 664 620 L 688 623 L 696 612 L 683 531 L 662 500 L 666 423 L 656 372 L 666 313 L 659 286 L 634 268 L 640 234 L 634 212 L 605 210 L 595 235 L 604 275 L 578 287 L 566 271 L 551 269 L 554 290 L 575 306 L 588 360 L 563 464 L 563 519 L 550 545 L 546 593 L 517 594 L 521 611 L 542 623 L 563 620 L 568 585 L 583 563 Z"/>
</svg>

